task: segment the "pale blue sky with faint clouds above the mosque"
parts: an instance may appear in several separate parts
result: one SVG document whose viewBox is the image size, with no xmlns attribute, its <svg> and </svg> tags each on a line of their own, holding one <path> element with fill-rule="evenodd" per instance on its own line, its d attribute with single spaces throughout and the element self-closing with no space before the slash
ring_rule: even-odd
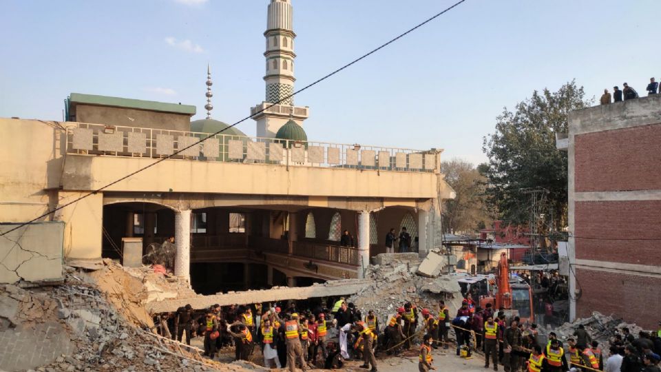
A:
<svg viewBox="0 0 661 372">
<path fill-rule="evenodd" d="M 457 0 L 292 0 L 296 87 Z M 72 93 L 196 105 L 213 118 L 264 100 L 268 0 L 0 0 L 0 117 L 62 119 Z M 486 161 L 496 116 L 576 79 L 587 97 L 661 78 L 659 0 L 467 0 L 295 96 L 311 141 L 445 149 Z M 251 119 L 238 125 L 255 135 Z"/>
</svg>

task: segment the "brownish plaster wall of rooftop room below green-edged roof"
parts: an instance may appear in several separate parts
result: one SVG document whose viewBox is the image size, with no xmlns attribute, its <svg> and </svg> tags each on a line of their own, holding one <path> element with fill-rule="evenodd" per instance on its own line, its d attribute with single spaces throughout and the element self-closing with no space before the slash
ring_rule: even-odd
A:
<svg viewBox="0 0 661 372">
<path fill-rule="evenodd" d="M 81 103 L 76 104 L 75 121 L 125 127 L 179 130 L 182 132 L 190 132 L 191 130 L 191 116 L 189 114 L 84 105 Z"/>
</svg>

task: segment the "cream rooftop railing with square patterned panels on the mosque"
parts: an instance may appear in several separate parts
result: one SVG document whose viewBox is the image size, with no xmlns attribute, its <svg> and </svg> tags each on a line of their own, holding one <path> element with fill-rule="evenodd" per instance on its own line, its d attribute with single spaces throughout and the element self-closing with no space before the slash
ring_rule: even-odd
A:
<svg viewBox="0 0 661 372">
<path fill-rule="evenodd" d="M 67 127 L 67 154 L 188 159 L 225 163 L 435 172 L 439 152 L 371 145 L 180 132 L 75 123 Z M 191 146 L 191 147 L 189 147 Z M 189 147 L 189 148 L 187 148 Z M 182 152 L 173 155 L 180 149 Z"/>
</svg>

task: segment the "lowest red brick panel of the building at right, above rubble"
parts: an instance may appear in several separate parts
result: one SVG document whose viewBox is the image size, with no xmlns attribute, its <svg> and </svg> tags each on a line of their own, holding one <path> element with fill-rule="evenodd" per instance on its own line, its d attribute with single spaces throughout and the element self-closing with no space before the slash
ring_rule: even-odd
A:
<svg viewBox="0 0 661 372">
<path fill-rule="evenodd" d="M 661 278 L 633 276 L 576 268 L 576 288 L 582 291 L 576 302 L 576 316 L 592 311 L 615 314 L 644 329 L 656 329 L 661 320 Z"/>
</svg>

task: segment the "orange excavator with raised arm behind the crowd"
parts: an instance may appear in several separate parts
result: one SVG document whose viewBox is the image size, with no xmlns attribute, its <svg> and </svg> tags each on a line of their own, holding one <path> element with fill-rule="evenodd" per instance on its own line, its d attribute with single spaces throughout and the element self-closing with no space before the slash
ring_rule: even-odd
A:
<svg viewBox="0 0 661 372">
<path fill-rule="evenodd" d="M 510 262 L 507 254 L 501 254 L 496 270 L 496 293 L 480 299 L 480 306 L 492 304 L 495 311 L 505 309 L 505 316 L 518 316 L 522 322 L 534 322 L 535 316 L 532 303 L 532 288 L 523 280 L 510 278 Z"/>
</svg>

